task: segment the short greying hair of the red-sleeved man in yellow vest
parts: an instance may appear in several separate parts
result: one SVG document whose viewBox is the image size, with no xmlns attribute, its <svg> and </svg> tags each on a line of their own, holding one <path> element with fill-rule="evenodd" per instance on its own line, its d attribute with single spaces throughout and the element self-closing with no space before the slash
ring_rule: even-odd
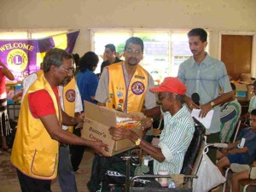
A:
<svg viewBox="0 0 256 192">
<path fill-rule="evenodd" d="M 51 65 L 60 67 L 63 59 L 73 59 L 73 55 L 67 53 L 67 51 L 64 49 L 49 49 L 49 51 L 45 54 L 44 61 L 42 63 L 44 72 L 49 72 Z"/>
</svg>

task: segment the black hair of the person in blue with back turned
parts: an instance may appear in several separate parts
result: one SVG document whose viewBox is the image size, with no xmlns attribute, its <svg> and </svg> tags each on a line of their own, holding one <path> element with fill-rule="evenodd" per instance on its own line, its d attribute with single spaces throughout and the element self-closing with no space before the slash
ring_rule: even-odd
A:
<svg viewBox="0 0 256 192">
<path fill-rule="evenodd" d="M 92 71 L 93 67 L 96 67 L 99 62 L 98 55 L 95 54 L 95 52 L 88 51 L 85 53 L 79 62 L 79 69 L 80 72 L 84 72 L 87 68 Z"/>
</svg>

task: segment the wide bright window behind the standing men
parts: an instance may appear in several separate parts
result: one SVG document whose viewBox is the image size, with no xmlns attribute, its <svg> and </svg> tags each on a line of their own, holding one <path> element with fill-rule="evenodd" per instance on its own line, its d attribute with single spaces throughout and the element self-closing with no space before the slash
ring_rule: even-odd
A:
<svg viewBox="0 0 256 192">
<path fill-rule="evenodd" d="M 160 83 L 167 76 L 176 77 L 180 63 L 192 55 L 189 49 L 188 31 L 92 30 L 92 48 L 97 55 L 100 55 L 96 73 L 100 73 L 106 44 L 114 44 L 119 52 L 118 55 L 121 55 L 126 39 L 134 36 L 143 39 L 144 52 L 141 65 L 152 75 L 156 83 Z"/>
</svg>

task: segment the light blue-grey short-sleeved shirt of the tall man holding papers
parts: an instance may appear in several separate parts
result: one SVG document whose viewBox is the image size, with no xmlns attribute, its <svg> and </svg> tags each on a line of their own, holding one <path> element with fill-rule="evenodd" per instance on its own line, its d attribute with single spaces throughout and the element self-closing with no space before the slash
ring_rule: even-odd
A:
<svg viewBox="0 0 256 192">
<path fill-rule="evenodd" d="M 218 88 L 224 93 L 230 92 L 230 79 L 226 67 L 222 61 L 207 55 L 201 64 L 197 64 L 194 57 L 183 61 L 177 73 L 180 79 L 187 87 L 186 95 L 191 98 L 193 93 L 198 93 L 200 103 L 206 104 L 218 97 Z M 216 133 L 220 131 L 220 108 L 213 108 L 212 124 L 207 133 Z"/>
</svg>

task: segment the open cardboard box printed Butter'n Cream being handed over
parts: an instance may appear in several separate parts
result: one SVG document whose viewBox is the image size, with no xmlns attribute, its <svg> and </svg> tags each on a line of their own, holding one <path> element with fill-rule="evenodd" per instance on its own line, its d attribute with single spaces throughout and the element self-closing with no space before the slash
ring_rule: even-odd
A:
<svg viewBox="0 0 256 192">
<path fill-rule="evenodd" d="M 81 131 L 81 137 L 90 141 L 101 141 L 102 143 L 108 144 L 108 154 L 110 156 L 135 148 L 135 143 L 131 142 L 129 139 L 113 141 L 112 136 L 108 132 L 110 126 L 116 125 L 116 114 L 113 110 L 85 101 L 84 109 L 85 122 Z M 133 129 L 139 137 L 142 137 L 143 129 L 141 125 L 137 125 L 131 129 Z"/>
</svg>

